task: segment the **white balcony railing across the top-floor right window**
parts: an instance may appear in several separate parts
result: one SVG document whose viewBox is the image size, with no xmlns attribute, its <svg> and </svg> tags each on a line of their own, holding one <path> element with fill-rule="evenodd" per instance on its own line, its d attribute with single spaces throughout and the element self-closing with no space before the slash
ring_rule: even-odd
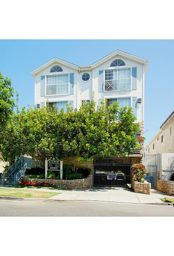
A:
<svg viewBox="0 0 174 256">
<path fill-rule="evenodd" d="M 117 80 L 105 80 L 104 91 L 121 91 L 131 90 L 131 78 L 117 79 Z"/>
</svg>

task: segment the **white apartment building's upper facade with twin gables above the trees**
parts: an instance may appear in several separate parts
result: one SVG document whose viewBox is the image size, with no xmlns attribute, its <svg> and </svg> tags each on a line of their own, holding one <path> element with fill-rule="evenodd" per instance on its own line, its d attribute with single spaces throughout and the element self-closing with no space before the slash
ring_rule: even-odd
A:
<svg viewBox="0 0 174 256">
<path fill-rule="evenodd" d="M 75 64 L 53 58 L 31 72 L 35 78 L 35 104 L 37 108 L 55 105 L 58 110 L 67 102 L 79 109 L 95 92 L 95 100 L 107 99 L 108 105 L 114 101 L 119 106 L 132 107 L 137 122 L 141 122 L 143 135 L 144 120 L 144 77 L 148 60 L 115 51 L 89 66 Z"/>
</svg>

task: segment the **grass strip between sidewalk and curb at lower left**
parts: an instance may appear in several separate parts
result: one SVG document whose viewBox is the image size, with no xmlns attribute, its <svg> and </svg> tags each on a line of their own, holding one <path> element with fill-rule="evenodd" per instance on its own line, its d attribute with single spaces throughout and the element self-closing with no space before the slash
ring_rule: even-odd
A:
<svg viewBox="0 0 174 256">
<path fill-rule="evenodd" d="M 26 198 L 50 198 L 61 193 L 42 192 L 36 190 L 20 190 L 12 188 L 0 188 L 0 196 L 5 197 L 26 197 Z"/>
</svg>

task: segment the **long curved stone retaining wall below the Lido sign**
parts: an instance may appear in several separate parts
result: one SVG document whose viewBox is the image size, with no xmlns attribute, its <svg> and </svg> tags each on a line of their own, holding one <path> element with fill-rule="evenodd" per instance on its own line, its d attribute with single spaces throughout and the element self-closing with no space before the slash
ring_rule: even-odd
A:
<svg viewBox="0 0 174 256">
<path fill-rule="evenodd" d="M 26 176 L 22 176 L 19 181 L 21 182 L 37 182 L 37 183 L 48 183 L 48 184 L 58 184 L 59 186 L 72 188 L 72 189 L 84 189 L 91 188 L 93 186 L 93 176 L 90 174 L 86 179 L 72 179 L 72 180 L 64 180 L 64 179 L 32 179 Z"/>
</svg>

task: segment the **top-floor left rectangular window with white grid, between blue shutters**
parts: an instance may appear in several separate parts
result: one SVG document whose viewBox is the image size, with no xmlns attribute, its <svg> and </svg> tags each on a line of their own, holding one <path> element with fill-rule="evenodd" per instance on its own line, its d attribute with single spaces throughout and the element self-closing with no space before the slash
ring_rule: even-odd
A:
<svg viewBox="0 0 174 256">
<path fill-rule="evenodd" d="M 68 74 L 47 75 L 47 95 L 68 94 Z"/>
</svg>

